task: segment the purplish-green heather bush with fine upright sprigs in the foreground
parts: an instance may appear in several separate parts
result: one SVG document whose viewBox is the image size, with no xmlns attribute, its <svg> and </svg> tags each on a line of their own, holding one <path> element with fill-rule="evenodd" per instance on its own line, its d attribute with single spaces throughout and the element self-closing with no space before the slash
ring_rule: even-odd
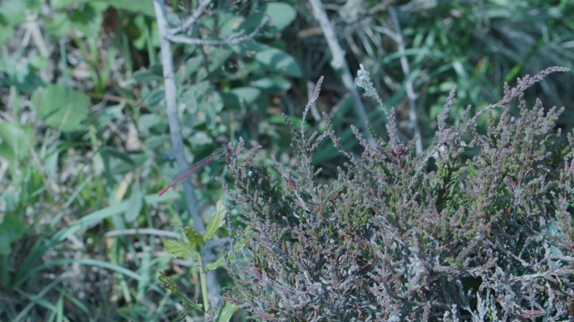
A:
<svg viewBox="0 0 574 322">
<path fill-rule="evenodd" d="M 297 163 L 283 182 L 229 151 L 241 214 L 236 286 L 226 299 L 254 317 L 286 321 L 563 320 L 574 315 L 574 137 L 552 132 L 561 109 L 526 107 L 523 92 L 551 72 L 505 85 L 500 102 L 447 124 L 415 155 L 396 134 L 354 157 L 333 130 L 310 136 L 286 118 Z M 365 83 L 363 73 L 358 83 Z M 318 97 L 320 80 L 314 97 Z M 372 87 L 363 86 L 369 96 Z M 517 101 L 520 115 L 510 114 Z M 309 106 L 306 109 L 309 109 Z M 500 117 L 493 110 L 500 109 Z M 486 133 L 476 130 L 489 115 Z M 305 116 L 305 115 L 304 115 Z M 303 117 L 303 120 L 305 117 Z M 313 152 L 326 137 L 348 158 L 317 183 Z M 470 156 L 470 157 L 469 157 Z M 237 254 L 239 255 L 239 254 Z"/>
</svg>

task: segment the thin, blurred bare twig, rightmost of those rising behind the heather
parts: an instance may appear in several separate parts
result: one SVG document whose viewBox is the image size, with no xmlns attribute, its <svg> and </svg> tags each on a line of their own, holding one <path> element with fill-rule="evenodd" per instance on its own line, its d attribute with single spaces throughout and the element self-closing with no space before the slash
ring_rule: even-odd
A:
<svg viewBox="0 0 574 322">
<path fill-rule="evenodd" d="M 421 140 L 421 130 L 419 129 L 419 121 L 416 115 L 416 97 L 417 95 L 414 93 L 413 89 L 413 80 L 411 80 L 411 68 L 409 67 L 409 61 L 406 59 L 406 54 L 404 50 L 404 39 L 403 39 L 403 31 L 401 30 L 401 25 L 398 23 L 398 19 L 396 18 L 396 11 L 395 8 L 389 6 L 388 13 L 391 15 L 391 20 L 395 25 L 395 41 L 396 47 L 398 47 L 398 52 L 401 55 L 401 67 L 403 68 L 404 73 L 404 86 L 406 87 L 406 96 L 409 99 L 409 120 L 411 121 L 410 125 L 413 130 L 414 136 L 418 139 L 414 143 L 414 148 L 416 149 L 416 153 L 422 153 L 422 140 Z"/>
</svg>

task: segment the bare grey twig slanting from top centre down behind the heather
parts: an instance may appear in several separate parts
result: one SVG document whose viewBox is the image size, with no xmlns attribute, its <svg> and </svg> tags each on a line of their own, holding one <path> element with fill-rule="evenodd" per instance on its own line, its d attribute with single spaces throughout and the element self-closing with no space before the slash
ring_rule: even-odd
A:
<svg viewBox="0 0 574 322">
<path fill-rule="evenodd" d="M 331 50 L 331 54 L 333 55 L 331 66 L 335 68 L 335 71 L 341 74 L 341 79 L 343 80 L 345 89 L 351 93 L 355 114 L 357 114 L 359 120 L 361 120 L 361 129 L 363 130 L 362 133 L 369 141 L 369 144 L 374 146 L 375 140 L 366 128 L 366 124 L 369 122 L 369 117 L 365 112 L 365 106 L 362 105 L 361 96 L 354 86 L 352 74 L 349 70 L 349 65 L 344 60 L 343 48 L 341 48 L 339 40 L 335 35 L 335 30 L 333 30 L 333 27 L 331 26 L 331 23 L 326 16 L 325 8 L 323 7 L 323 4 L 320 0 L 309 0 L 309 4 L 311 4 L 311 7 L 313 8 L 313 15 L 321 25 L 321 30 L 323 30 L 326 42 L 329 46 L 329 49 Z"/>
</svg>

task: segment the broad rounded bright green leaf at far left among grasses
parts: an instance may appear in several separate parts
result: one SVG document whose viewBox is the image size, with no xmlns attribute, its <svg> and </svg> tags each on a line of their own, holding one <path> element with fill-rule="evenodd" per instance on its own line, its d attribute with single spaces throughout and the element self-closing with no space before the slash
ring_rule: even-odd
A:
<svg viewBox="0 0 574 322">
<path fill-rule="evenodd" d="M 88 117 L 89 97 L 74 89 L 50 85 L 34 92 L 34 108 L 48 126 L 60 131 L 79 131 Z"/>
</svg>

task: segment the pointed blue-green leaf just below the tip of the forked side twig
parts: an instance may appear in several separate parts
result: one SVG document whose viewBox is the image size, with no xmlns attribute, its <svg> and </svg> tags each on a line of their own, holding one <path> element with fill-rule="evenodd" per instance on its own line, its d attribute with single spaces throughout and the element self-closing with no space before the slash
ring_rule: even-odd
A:
<svg viewBox="0 0 574 322">
<path fill-rule="evenodd" d="M 301 77 L 302 73 L 295 58 L 281 49 L 257 42 L 241 44 L 239 47 L 234 48 L 243 55 L 255 53 L 254 57 L 257 62 L 262 64 L 269 72 L 279 73 L 289 77 Z"/>
</svg>

